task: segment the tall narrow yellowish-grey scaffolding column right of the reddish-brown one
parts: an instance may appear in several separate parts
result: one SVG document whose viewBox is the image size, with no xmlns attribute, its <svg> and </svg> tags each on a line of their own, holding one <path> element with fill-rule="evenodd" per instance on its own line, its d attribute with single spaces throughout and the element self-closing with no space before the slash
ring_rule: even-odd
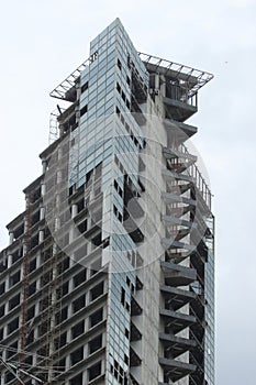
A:
<svg viewBox="0 0 256 385">
<path fill-rule="evenodd" d="M 56 150 L 56 155 L 58 155 Z M 53 157 L 55 158 L 55 157 Z M 45 356 L 41 361 L 44 367 L 42 380 L 44 384 L 56 384 L 55 376 L 57 370 L 59 340 L 60 340 L 60 318 L 63 297 L 63 261 L 65 253 L 59 250 L 55 235 L 59 229 L 59 217 L 62 206 L 60 194 L 62 184 L 57 175 L 60 172 L 60 162 L 56 156 L 52 161 L 46 176 L 46 194 L 44 205 L 46 211 L 46 227 L 44 230 L 44 242 L 42 251 L 43 274 L 41 285 L 44 287 L 41 297 L 41 355 Z"/>
</svg>

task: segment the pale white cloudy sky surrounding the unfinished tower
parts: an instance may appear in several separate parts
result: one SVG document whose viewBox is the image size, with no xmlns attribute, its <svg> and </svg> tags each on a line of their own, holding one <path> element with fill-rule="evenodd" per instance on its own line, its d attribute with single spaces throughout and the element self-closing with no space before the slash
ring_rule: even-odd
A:
<svg viewBox="0 0 256 385">
<path fill-rule="evenodd" d="M 138 51 L 205 69 L 194 145 L 211 178 L 216 217 L 216 385 L 255 385 L 256 0 L 0 1 L 0 246 L 41 173 L 48 92 L 84 62 L 116 16 Z"/>
</svg>

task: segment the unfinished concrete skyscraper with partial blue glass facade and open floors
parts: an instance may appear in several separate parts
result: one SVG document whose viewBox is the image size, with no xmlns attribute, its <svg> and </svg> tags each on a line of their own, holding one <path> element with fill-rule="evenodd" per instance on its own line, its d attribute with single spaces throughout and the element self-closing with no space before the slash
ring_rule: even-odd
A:
<svg viewBox="0 0 256 385">
<path fill-rule="evenodd" d="M 0 254 L 1 385 L 214 385 L 214 219 L 185 123 L 211 78 L 116 19 L 51 94 Z"/>
</svg>

